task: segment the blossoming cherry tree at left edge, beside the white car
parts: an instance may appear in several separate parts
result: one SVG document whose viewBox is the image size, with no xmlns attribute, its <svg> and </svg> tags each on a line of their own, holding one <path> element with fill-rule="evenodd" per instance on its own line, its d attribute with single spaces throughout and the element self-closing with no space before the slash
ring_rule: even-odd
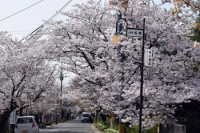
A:
<svg viewBox="0 0 200 133">
<path fill-rule="evenodd" d="M 0 130 L 4 131 L 9 114 L 38 102 L 41 96 L 53 89 L 54 69 L 50 67 L 41 42 L 25 44 L 13 40 L 6 32 L 0 33 L 0 47 L 4 54 L 0 64 L 0 105 L 4 109 Z"/>
</svg>

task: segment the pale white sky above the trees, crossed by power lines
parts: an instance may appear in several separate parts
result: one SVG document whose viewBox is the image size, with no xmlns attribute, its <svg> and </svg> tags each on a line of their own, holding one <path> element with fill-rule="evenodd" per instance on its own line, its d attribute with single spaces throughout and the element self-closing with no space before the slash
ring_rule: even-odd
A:
<svg viewBox="0 0 200 133">
<path fill-rule="evenodd" d="M 0 4 L 0 19 L 13 14 L 39 0 L 2 0 Z M 5 21 L 0 21 L 0 31 L 8 31 L 14 37 L 21 38 L 32 32 L 45 20 L 56 13 L 69 0 L 45 0 L 42 3 Z M 65 10 L 69 10 L 75 3 L 87 0 L 73 0 Z"/>
</svg>

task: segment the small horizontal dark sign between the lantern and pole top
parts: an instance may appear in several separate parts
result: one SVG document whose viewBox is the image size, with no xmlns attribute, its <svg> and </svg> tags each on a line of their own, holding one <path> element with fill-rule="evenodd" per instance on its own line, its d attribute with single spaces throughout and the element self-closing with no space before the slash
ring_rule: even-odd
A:
<svg viewBox="0 0 200 133">
<path fill-rule="evenodd" d="M 126 35 L 128 37 L 143 37 L 143 29 L 127 28 Z"/>
</svg>

